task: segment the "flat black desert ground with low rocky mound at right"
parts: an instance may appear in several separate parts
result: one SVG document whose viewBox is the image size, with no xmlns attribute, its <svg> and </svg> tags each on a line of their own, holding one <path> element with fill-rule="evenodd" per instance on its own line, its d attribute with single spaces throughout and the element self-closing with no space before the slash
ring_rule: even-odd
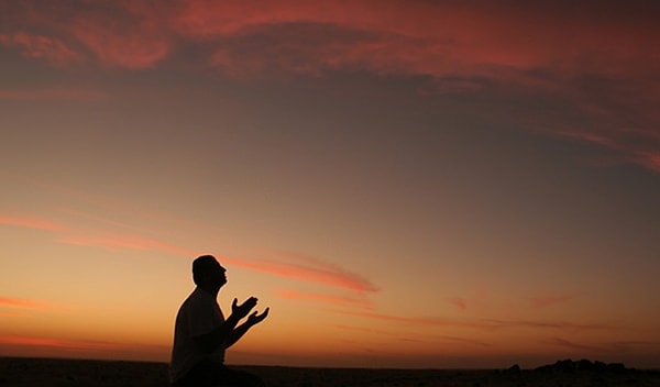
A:
<svg viewBox="0 0 660 387">
<path fill-rule="evenodd" d="M 660 387 L 660 371 L 638 371 L 623 364 L 570 360 L 536 369 L 361 369 L 244 366 L 270 387 Z M 84 360 L 0 357 L 0 386 L 168 386 L 167 364 Z"/>
</svg>

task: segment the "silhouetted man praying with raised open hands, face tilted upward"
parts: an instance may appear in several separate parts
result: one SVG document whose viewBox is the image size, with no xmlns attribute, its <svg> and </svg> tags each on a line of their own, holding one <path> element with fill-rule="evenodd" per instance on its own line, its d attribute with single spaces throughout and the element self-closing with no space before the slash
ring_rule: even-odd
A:
<svg viewBox="0 0 660 387">
<path fill-rule="evenodd" d="M 256 306 L 256 298 L 250 297 L 241 305 L 234 298 L 231 314 L 226 320 L 216 300 L 227 284 L 224 272 L 212 255 L 202 255 L 193 262 L 193 280 L 197 287 L 179 308 L 174 328 L 169 364 L 174 386 L 264 386 L 257 376 L 224 366 L 224 350 L 262 322 L 270 309 L 248 317 Z M 237 327 L 245 317 L 248 320 Z"/>
</svg>

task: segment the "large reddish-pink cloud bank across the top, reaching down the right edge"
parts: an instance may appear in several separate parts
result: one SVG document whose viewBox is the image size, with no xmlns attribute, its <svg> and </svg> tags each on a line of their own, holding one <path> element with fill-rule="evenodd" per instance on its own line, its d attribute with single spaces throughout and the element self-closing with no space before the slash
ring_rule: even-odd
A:
<svg viewBox="0 0 660 387">
<path fill-rule="evenodd" d="M 238 77 L 369 71 L 424 77 L 426 93 L 552 97 L 584 109 L 588 129 L 569 136 L 615 150 L 615 163 L 660 170 L 657 4 L 24 1 L 7 12 L 0 44 L 57 64 L 89 56 L 144 69 L 173 59 Z M 559 135 L 571 126 L 540 121 Z M 656 140 L 645 144 L 630 129 Z"/>
</svg>

